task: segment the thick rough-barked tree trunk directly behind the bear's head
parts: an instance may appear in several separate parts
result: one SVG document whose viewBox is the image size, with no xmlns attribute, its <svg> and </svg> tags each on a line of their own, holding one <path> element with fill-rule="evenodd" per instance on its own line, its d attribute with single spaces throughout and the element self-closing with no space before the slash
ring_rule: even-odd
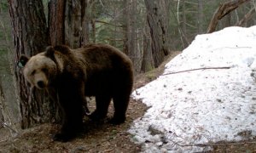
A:
<svg viewBox="0 0 256 153">
<path fill-rule="evenodd" d="M 20 96 L 21 128 L 49 122 L 56 117 L 55 104 L 49 103 L 43 91 L 32 89 L 16 66 L 20 54 L 38 54 L 47 45 L 49 33 L 41 0 L 9 0 L 9 13 L 15 43 L 14 71 Z"/>
</svg>

